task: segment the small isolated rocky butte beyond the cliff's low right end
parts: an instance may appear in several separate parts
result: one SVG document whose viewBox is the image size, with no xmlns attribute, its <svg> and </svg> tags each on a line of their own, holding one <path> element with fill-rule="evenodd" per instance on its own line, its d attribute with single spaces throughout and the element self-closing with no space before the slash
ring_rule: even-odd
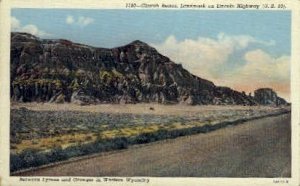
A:
<svg viewBox="0 0 300 186">
<path fill-rule="evenodd" d="M 278 97 L 276 92 L 270 88 L 261 88 L 255 90 L 254 99 L 260 105 L 288 105 L 283 98 Z"/>
</svg>

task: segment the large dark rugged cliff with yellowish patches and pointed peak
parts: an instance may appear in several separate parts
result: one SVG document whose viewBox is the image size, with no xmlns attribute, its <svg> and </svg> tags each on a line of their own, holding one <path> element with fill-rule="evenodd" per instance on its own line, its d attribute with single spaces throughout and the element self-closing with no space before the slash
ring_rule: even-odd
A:
<svg viewBox="0 0 300 186">
<path fill-rule="evenodd" d="M 259 94 L 256 99 L 192 75 L 141 41 L 105 49 L 27 33 L 11 34 L 11 99 L 81 105 L 264 103 Z"/>
</svg>

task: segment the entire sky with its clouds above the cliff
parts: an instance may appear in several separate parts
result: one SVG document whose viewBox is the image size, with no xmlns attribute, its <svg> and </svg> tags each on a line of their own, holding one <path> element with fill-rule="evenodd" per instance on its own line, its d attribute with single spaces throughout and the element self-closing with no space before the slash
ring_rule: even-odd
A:
<svg viewBox="0 0 300 186">
<path fill-rule="evenodd" d="M 289 84 L 289 69 L 280 72 L 282 77 L 272 73 L 289 63 L 290 11 L 13 9 L 11 16 L 13 31 L 31 32 L 42 38 L 64 38 L 106 48 L 139 39 L 192 73 L 239 90 L 241 86 L 236 84 L 241 78 L 256 76 L 249 74 L 252 70 L 270 79 L 257 86 L 270 85 L 289 97 L 289 86 L 282 88 Z M 263 69 L 277 69 L 264 77 L 262 70 L 254 69 L 255 59 L 262 61 Z M 279 81 L 281 85 L 274 86 Z"/>
</svg>

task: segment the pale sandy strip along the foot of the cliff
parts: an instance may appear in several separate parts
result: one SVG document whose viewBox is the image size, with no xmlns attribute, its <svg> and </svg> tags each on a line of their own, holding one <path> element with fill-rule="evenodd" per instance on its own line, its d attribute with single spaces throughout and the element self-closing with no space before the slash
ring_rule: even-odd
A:
<svg viewBox="0 0 300 186">
<path fill-rule="evenodd" d="M 265 106 L 217 106 L 217 105 L 162 105 L 154 103 L 139 104 L 99 104 L 80 106 L 72 103 L 12 103 L 12 109 L 26 107 L 36 111 L 81 111 L 81 112 L 101 112 L 101 113 L 129 113 L 129 114 L 157 114 L 157 115 L 193 115 L 205 111 L 222 110 L 276 110 L 278 107 Z M 150 109 L 152 107 L 153 109 Z"/>
</svg>

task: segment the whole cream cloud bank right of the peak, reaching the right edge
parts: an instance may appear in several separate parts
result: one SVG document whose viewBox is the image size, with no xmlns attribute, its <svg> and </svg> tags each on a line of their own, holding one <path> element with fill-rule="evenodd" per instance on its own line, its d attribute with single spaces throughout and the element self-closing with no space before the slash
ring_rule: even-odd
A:
<svg viewBox="0 0 300 186">
<path fill-rule="evenodd" d="M 289 56 L 276 58 L 261 49 L 244 51 L 250 44 L 271 46 L 276 43 L 261 41 L 249 35 L 220 33 L 216 38 L 198 37 L 183 41 L 169 36 L 164 42 L 152 45 L 172 61 L 182 63 L 193 74 L 217 85 L 246 92 L 270 87 L 289 99 Z M 242 58 L 235 59 L 239 65 L 231 69 L 224 68 L 229 63 L 229 57 L 234 54 L 244 54 Z"/>
</svg>

